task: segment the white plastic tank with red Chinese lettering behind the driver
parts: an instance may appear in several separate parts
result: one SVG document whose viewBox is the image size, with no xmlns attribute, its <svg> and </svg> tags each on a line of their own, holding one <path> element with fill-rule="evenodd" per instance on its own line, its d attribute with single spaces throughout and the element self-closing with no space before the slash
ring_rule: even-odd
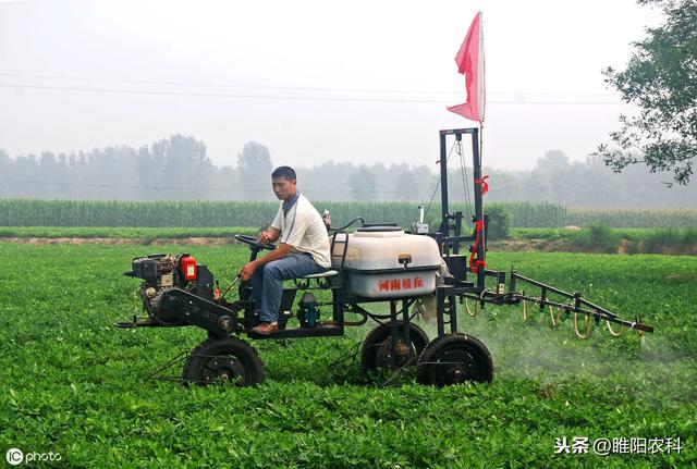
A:
<svg viewBox="0 0 697 469">
<path fill-rule="evenodd" d="M 338 235 L 332 263 L 340 267 L 345 235 Z M 436 289 L 440 251 L 429 236 L 395 226 L 359 229 L 350 234 L 344 272 L 347 292 L 365 298 L 423 296 Z"/>
</svg>

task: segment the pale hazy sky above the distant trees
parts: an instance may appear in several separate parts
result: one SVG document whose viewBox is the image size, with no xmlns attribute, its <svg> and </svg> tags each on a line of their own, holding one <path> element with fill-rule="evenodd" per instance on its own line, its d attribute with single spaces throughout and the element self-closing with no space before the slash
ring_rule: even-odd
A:
<svg viewBox="0 0 697 469">
<path fill-rule="evenodd" d="M 657 11 L 586 1 L 0 1 L 0 148 L 138 147 L 180 133 L 218 165 L 247 140 L 277 164 L 432 164 L 474 125 L 453 58 L 484 13 L 485 164 L 584 160 L 627 107 L 622 67 Z M 590 102 L 590 103 L 589 103 Z"/>
</svg>

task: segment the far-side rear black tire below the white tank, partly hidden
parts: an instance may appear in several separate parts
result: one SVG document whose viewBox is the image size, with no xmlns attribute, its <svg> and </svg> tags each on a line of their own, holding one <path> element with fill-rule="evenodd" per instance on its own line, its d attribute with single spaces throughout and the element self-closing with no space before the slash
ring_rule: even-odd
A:
<svg viewBox="0 0 697 469">
<path fill-rule="evenodd" d="M 398 321 L 399 342 L 398 354 L 393 369 L 399 369 L 406 365 L 412 358 L 418 357 L 428 344 L 428 335 L 421 328 L 409 322 L 409 342 L 411 347 L 406 347 L 404 341 L 403 321 Z M 366 335 L 360 350 L 360 362 L 366 370 L 375 370 L 377 368 L 387 368 L 389 355 L 392 348 L 392 329 L 390 324 L 380 324 Z M 400 353 L 401 350 L 401 353 Z M 416 360 L 413 360 L 416 365 Z"/>
</svg>

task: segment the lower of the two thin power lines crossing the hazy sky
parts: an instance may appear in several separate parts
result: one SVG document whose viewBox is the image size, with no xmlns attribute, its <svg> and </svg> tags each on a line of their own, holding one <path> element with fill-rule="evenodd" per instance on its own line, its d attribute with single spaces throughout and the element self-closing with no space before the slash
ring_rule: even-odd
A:
<svg viewBox="0 0 697 469">
<path fill-rule="evenodd" d="M 456 98 L 452 100 L 435 100 L 435 99 L 390 99 L 390 98 L 357 98 L 357 97 L 327 97 L 327 96 L 288 96 L 288 95 L 233 95 L 225 92 L 195 92 L 195 91 L 160 91 L 144 89 L 125 89 L 125 88 L 86 88 L 77 86 L 48 86 L 48 85 L 23 85 L 16 83 L 0 83 L 2 88 L 26 88 L 42 89 L 52 91 L 81 91 L 81 92 L 110 92 L 120 95 L 151 95 L 151 96 L 188 96 L 199 98 L 231 98 L 231 99 L 270 99 L 270 100 L 295 100 L 295 101 L 342 101 L 342 102 L 396 102 L 396 103 L 419 103 L 419 104 L 452 104 Z M 498 101 L 489 100 L 489 104 L 582 104 L 582 106 L 617 106 L 624 104 L 622 101 Z"/>
</svg>

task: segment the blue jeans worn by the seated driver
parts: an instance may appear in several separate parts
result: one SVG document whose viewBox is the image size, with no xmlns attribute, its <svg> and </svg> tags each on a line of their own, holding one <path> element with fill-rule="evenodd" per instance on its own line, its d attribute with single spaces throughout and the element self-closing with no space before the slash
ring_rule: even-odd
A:
<svg viewBox="0 0 697 469">
<path fill-rule="evenodd" d="M 284 280 L 326 270 L 307 252 L 292 254 L 255 270 L 252 276 L 252 295 L 256 307 L 261 309 L 259 320 L 261 322 L 278 321 Z"/>
</svg>

